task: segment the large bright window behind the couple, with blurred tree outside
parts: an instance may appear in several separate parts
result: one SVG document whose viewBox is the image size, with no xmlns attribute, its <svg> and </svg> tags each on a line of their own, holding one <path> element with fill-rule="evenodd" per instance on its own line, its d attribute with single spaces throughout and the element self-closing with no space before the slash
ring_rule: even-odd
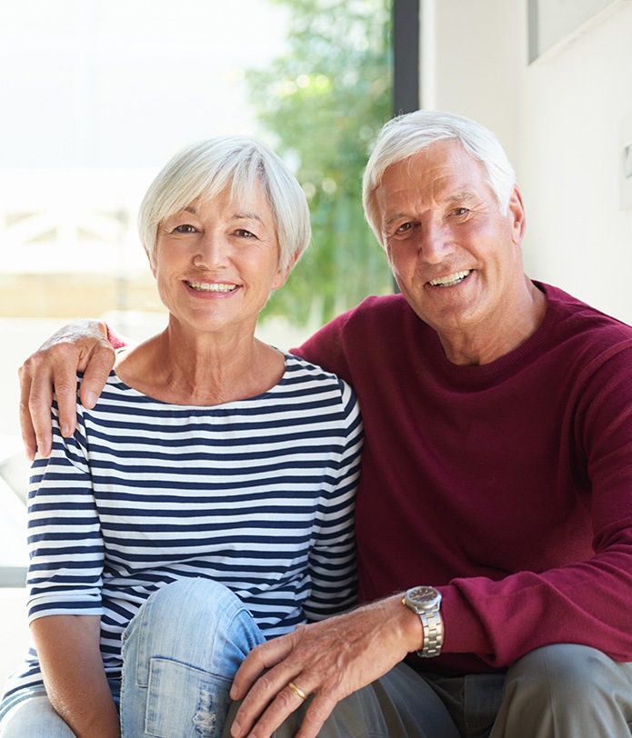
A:
<svg viewBox="0 0 632 738">
<path fill-rule="evenodd" d="M 392 110 L 390 26 L 389 0 L 0 5 L 4 632 L 23 621 L 21 601 L 18 615 L 6 600 L 25 566 L 17 367 L 74 317 L 105 318 L 137 339 L 165 324 L 135 213 L 170 155 L 252 133 L 303 185 L 314 239 L 266 308 L 265 340 L 291 347 L 391 290 L 360 204 L 369 145 Z M 3 654 L 0 678 L 19 647 L 16 638 Z"/>
</svg>

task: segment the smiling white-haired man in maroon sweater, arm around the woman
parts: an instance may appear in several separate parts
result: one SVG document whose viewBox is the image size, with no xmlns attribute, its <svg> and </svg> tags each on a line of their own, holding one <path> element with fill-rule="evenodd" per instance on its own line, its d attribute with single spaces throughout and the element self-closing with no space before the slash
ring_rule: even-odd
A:
<svg viewBox="0 0 632 738">
<path fill-rule="evenodd" d="M 632 328 L 524 274 L 515 175 L 472 121 L 388 123 L 364 199 L 401 294 L 296 353 L 362 405 L 366 604 L 257 646 L 231 733 L 629 736 Z M 28 408 L 45 454 L 51 385 L 71 434 L 77 364 L 94 404 L 111 363 L 82 324 L 25 364 L 32 452 Z"/>
</svg>

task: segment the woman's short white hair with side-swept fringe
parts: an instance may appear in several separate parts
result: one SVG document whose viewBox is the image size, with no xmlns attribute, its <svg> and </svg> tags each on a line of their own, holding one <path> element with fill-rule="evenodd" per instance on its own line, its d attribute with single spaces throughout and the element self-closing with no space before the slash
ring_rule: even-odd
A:
<svg viewBox="0 0 632 738">
<path fill-rule="evenodd" d="M 261 186 L 275 217 L 279 263 L 303 254 L 311 238 L 306 196 L 281 158 L 256 138 L 216 136 L 179 151 L 149 185 L 138 211 L 138 232 L 152 263 L 158 226 L 196 200 L 208 201 L 230 187 L 248 198 Z"/>
</svg>

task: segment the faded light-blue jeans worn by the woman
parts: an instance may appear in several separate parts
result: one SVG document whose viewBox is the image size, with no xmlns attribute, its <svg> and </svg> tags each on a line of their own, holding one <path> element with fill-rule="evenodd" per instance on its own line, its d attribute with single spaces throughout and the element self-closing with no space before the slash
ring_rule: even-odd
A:
<svg viewBox="0 0 632 738">
<path fill-rule="evenodd" d="M 240 663 L 264 636 L 238 597 L 207 579 L 153 593 L 123 633 L 123 738 L 222 734 Z M 118 702 L 119 681 L 110 682 Z M 7 701 L 2 738 L 72 738 L 40 687 Z"/>
</svg>

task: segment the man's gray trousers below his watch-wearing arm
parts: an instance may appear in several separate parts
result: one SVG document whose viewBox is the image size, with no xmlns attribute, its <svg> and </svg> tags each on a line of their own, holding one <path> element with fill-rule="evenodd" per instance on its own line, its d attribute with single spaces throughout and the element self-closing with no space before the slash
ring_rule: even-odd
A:
<svg viewBox="0 0 632 738">
<path fill-rule="evenodd" d="M 309 701 L 276 731 L 296 734 Z M 226 722 L 225 736 L 236 707 Z M 630 738 L 632 663 L 555 644 L 507 674 L 420 676 L 399 664 L 338 703 L 321 738 Z"/>
</svg>

